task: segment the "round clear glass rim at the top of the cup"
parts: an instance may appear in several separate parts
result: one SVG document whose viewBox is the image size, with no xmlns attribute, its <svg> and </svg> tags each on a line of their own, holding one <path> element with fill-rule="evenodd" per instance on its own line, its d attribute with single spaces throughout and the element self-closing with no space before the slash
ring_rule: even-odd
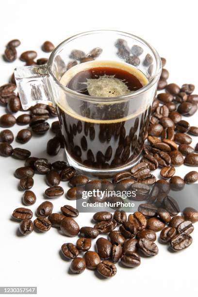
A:
<svg viewBox="0 0 198 297">
<path fill-rule="evenodd" d="M 81 36 L 84 36 L 84 35 L 89 35 L 89 34 L 98 34 L 98 33 L 117 33 L 117 34 L 120 34 L 120 35 L 124 35 L 124 36 L 128 36 L 128 37 L 132 37 L 133 39 L 136 39 L 142 43 L 144 43 L 153 53 L 154 57 L 155 57 L 155 60 L 156 60 L 156 71 L 155 71 L 155 74 L 153 75 L 153 78 L 150 80 L 150 82 L 148 82 L 148 84 L 146 84 L 145 86 L 143 86 L 142 88 L 140 88 L 139 90 L 137 91 L 134 91 L 133 93 L 129 93 L 129 94 L 126 94 L 126 95 L 122 95 L 122 96 L 118 96 L 118 97 L 96 97 L 96 96 L 88 96 L 88 95 L 85 95 L 85 94 L 80 94 L 76 91 L 73 91 L 71 89 L 69 89 L 68 87 L 64 86 L 63 84 L 61 84 L 57 79 L 56 77 L 53 75 L 52 71 L 51 71 L 51 66 L 53 64 L 53 59 L 54 59 L 54 56 L 56 55 L 56 53 L 58 51 L 60 51 L 61 48 L 63 48 L 66 43 L 76 39 L 76 38 L 79 38 Z M 83 32 L 83 33 L 78 33 L 78 34 L 75 34 L 71 37 L 68 37 L 67 39 L 65 39 L 63 42 L 61 42 L 50 54 L 49 56 L 49 60 L 47 62 L 47 69 L 48 69 L 48 72 L 50 74 L 50 76 L 53 78 L 53 80 L 59 85 L 59 87 L 61 87 L 64 92 L 68 93 L 69 95 L 72 95 L 72 96 L 75 96 L 75 98 L 78 98 L 78 99 L 81 99 L 81 100 L 84 100 L 84 101 L 94 101 L 94 102 L 113 102 L 113 101 L 122 101 L 122 100 L 126 100 L 126 99 L 132 99 L 133 97 L 135 96 L 138 96 L 144 92 L 146 92 L 149 88 L 151 88 L 153 86 L 153 84 L 155 84 L 155 82 L 158 81 L 160 75 L 161 75 L 161 71 L 162 71 L 162 61 L 161 61 L 161 58 L 158 54 L 158 52 L 156 51 L 156 49 L 154 49 L 147 41 L 145 41 L 143 38 L 141 37 L 138 37 L 136 35 L 133 35 L 131 33 L 127 33 L 127 32 L 123 32 L 123 31 L 117 31 L 117 30 L 93 30 L 93 31 L 86 31 L 86 32 Z"/>
</svg>

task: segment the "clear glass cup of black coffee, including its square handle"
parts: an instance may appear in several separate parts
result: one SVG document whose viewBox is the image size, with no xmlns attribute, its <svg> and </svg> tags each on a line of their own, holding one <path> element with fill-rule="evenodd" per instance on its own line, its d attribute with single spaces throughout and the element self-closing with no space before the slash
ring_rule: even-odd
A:
<svg viewBox="0 0 198 297">
<path fill-rule="evenodd" d="M 161 75 L 159 54 L 129 33 L 66 39 L 48 63 L 15 69 L 21 104 L 56 107 L 70 166 L 108 178 L 140 158 Z"/>
</svg>

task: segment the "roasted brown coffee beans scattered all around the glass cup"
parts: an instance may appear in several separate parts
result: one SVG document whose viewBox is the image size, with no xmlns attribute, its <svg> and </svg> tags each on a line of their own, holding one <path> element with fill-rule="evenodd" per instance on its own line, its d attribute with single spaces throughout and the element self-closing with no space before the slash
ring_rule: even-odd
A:
<svg viewBox="0 0 198 297">
<path fill-rule="evenodd" d="M 20 41 L 11 40 L 5 49 L 4 58 L 8 62 L 16 60 L 16 47 Z M 115 43 L 118 56 L 125 59 L 133 66 L 140 63 L 139 56 L 143 49 L 134 45 L 129 49 L 123 39 Z M 46 41 L 41 47 L 45 52 L 54 49 L 51 42 Z M 82 50 L 73 50 L 70 53 L 72 59 L 67 69 L 78 63 L 92 61 L 102 52 L 100 48 L 92 49 L 88 54 Z M 20 55 L 20 60 L 25 65 L 43 65 L 46 58 L 37 58 L 34 50 L 28 50 Z M 21 145 L 31 141 L 34 134 L 43 135 L 49 130 L 49 117 L 56 117 L 57 112 L 53 106 L 42 103 L 36 104 L 28 112 L 15 117 L 18 111 L 22 111 L 20 99 L 16 92 L 14 75 L 10 82 L 0 86 L 0 105 L 6 108 L 6 113 L 0 116 L 0 127 L 6 128 L 0 131 L 0 156 L 13 156 L 24 160 L 24 166 L 16 169 L 15 176 L 19 179 L 19 187 L 24 191 L 22 202 L 24 206 L 36 203 L 36 195 L 31 190 L 34 184 L 34 174 L 45 175 L 48 188 L 44 195 L 50 198 L 58 198 L 64 195 L 64 189 L 59 184 L 61 181 L 69 181 L 71 188 L 66 193 L 66 198 L 76 200 L 82 197 L 82 189 L 88 185 L 89 189 L 120 190 L 134 189 L 137 191 L 136 200 L 146 201 L 139 205 L 138 211 L 127 214 L 124 211 L 115 210 L 98 212 L 94 214 L 93 226 L 79 226 L 75 218 L 79 211 L 70 205 L 64 205 L 60 211 L 53 213 L 53 204 L 44 201 L 37 207 L 36 217 L 32 221 L 33 212 L 29 208 L 19 207 L 14 210 L 13 218 L 18 220 L 19 231 L 23 235 L 33 232 L 34 228 L 41 232 L 49 231 L 51 227 L 60 228 L 62 234 L 73 237 L 80 235 L 76 245 L 64 243 L 61 250 L 67 259 L 70 259 L 70 269 L 73 273 L 82 273 L 85 268 L 97 269 L 104 278 L 116 274 L 115 263 L 120 261 L 123 266 L 137 267 L 141 263 L 141 255 L 155 256 L 158 247 L 155 244 L 156 232 L 160 231 L 160 241 L 168 243 L 172 250 L 179 251 L 189 247 L 192 243 L 191 233 L 194 230 L 193 223 L 198 221 L 198 211 L 188 207 L 182 215 L 177 202 L 168 196 L 170 189 L 181 190 L 185 183 L 198 181 L 198 172 L 193 170 L 184 177 L 175 175 L 175 167 L 180 165 L 198 166 L 198 144 L 191 146 L 190 135 L 198 136 L 198 127 L 190 126 L 190 123 L 182 116 L 194 115 L 198 108 L 198 95 L 192 94 L 195 86 L 183 84 L 179 87 L 175 83 L 167 83 L 168 71 L 164 68 L 165 58 L 161 58 L 163 70 L 158 83 L 158 90 L 165 90 L 157 95 L 153 101 L 152 115 L 148 126 L 147 142 L 143 149 L 140 163 L 133 166 L 130 171 L 120 172 L 112 181 L 92 180 L 79 175 L 75 168 L 65 161 L 50 163 L 46 158 L 32 157 L 31 152 L 25 148 L 13 148 L 11 146 L 14 135 L 8 129 L 15 124 L 26 126 L 16 135 L 16 141 Z M 152 57 L 147 54 L 144 57 L 144 66 L 148 67 L 148 73 L 152 72 Z M 8 111 L 8 113 L 7 113 Z M 63 137 L 58 120 L 51 125 L 54 138 L 47 144 L 47 153 L 50 156 L 57 155 L 64 148 Z M 162 179 L 156 180 L 151 173 L 160 168 Z M 116 197 L 90 198 L 95 201 L 116 201 Z M 120 200 L 121 198 L 119 198 Z M 121 199 L 122 200 L 122 199 Z M 108 234 L 108 239 L 99 237 L 99 234 Z M 97 238 L 96 250 L 92 247 L 92 239 Z M 93 250 L 90 250 L 92 247 Z M 81 257 L 79 255 L 82 255 Z"/>
</svg>

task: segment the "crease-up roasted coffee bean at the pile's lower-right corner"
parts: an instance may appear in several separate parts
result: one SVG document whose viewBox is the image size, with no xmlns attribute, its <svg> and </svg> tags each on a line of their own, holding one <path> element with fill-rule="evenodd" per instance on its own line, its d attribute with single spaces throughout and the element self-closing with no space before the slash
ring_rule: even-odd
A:
<svg viewBox="0 0 198 297">
<path fill-rule="evenodd" d="M 190 235 L 187 235 L 185 233 L 181 233 L 178 235 L 175 235 L 171 241 L 170 241 L 170 247 L 174 251 L 182 250 L 186 247 L 189 247 L 193 242 L 193 239 Z"/>
</svg>

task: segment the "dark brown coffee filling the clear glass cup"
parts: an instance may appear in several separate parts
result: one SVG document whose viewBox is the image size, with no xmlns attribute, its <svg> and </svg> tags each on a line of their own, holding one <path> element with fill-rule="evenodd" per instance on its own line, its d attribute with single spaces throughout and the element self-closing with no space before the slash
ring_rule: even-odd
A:
<svg viewBox="0 0 198 297">
<path fill-rule="evenodd" d="M 106 94 L 103 97 L 114 97 L 122 90 L 122 95 L 129 94 L 143 86 L 132 73 L 114 67 L 80 71 L 66 85 L 86 95 L 93 96 L 95 91 L 97 95 Z M 77 108 L 74 101 L 68 102 L 70 110 Z M 57 108 L 66 150 L 73 159 L 87 167 L 108 169 L 126 165 L 140 154 L 151 108 L 130 115 L 129 101 L 106 105 L 79 102 L 77 116 Z"/>
</svg>

